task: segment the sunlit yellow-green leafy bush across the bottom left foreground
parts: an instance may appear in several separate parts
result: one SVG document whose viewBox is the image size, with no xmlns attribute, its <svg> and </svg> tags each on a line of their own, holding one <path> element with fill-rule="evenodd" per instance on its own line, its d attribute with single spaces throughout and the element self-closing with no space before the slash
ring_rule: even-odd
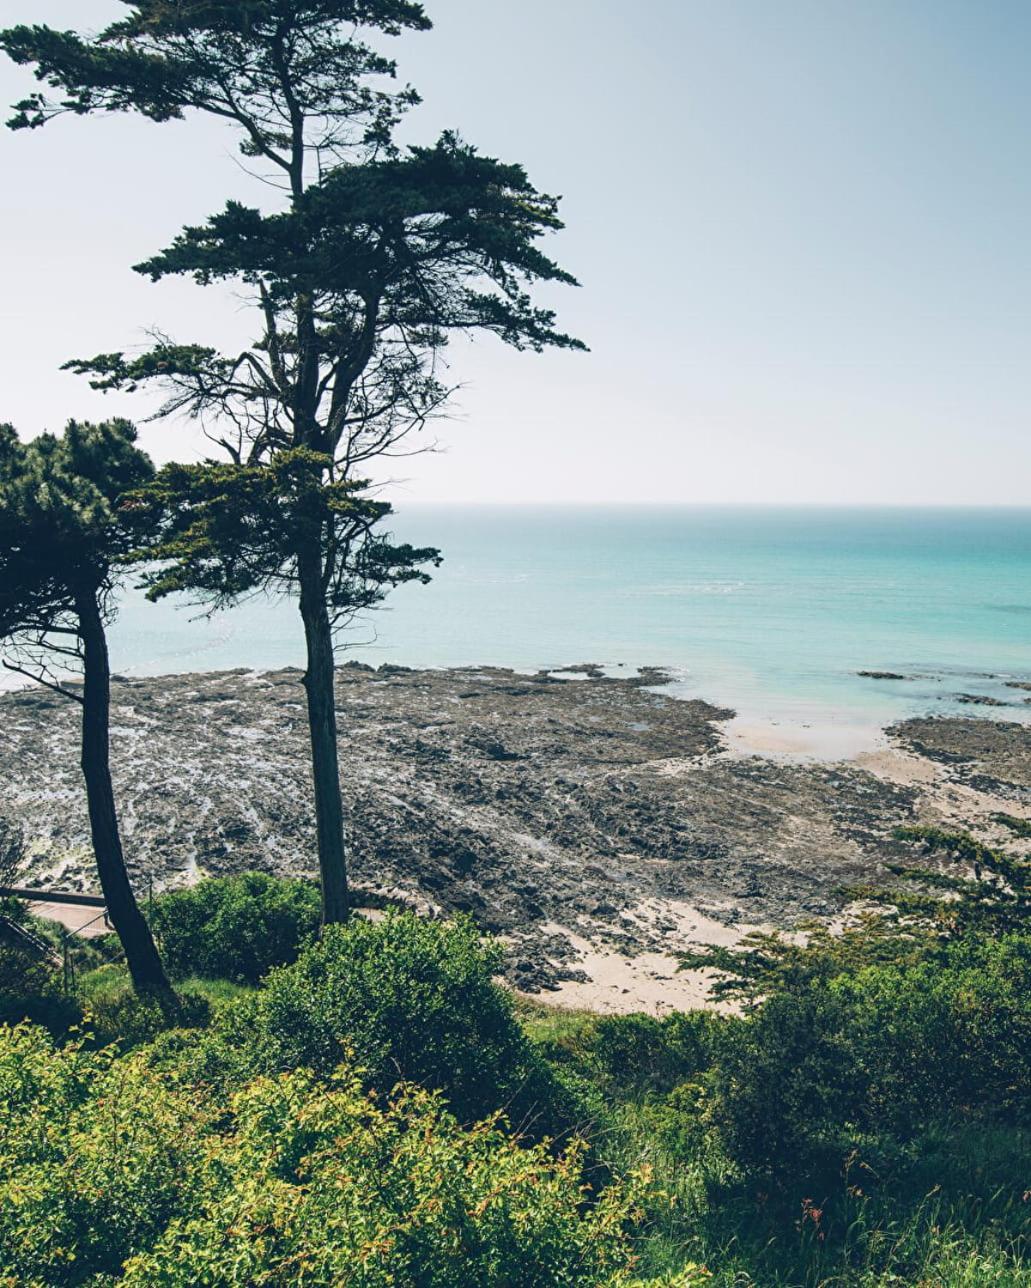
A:
<svg viewBox="0 0 1031 1288">
<path fill-rule="evenodd" d="M 168 1050 L 166 1050 L 168 1056 Z M 139 1051 L 0 1029 L 0 1282 L 18 1288 L 606 1283 L 643 1179 L 585 1204 L 581 1149 L 461 1128 L 353 1073 L 210 1087 Z"/>
</svg>

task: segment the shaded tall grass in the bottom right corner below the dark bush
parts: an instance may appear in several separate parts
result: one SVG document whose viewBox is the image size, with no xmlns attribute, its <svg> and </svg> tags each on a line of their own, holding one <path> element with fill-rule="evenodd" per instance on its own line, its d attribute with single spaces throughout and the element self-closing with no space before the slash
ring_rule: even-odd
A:
<svg viewBox="0 0 1031 1288">
<path fill-rule="evenodd" d="M 1031 1137 L 959 1124 L 898 1176 L 827 1203 L 771 1200 L 711 1139 L 674 1144 L 661 1110 L 619 1106 L 602 1149 L 616 1170 L 647 1163 L 665 1195 L 639 1248 L 642 1275 L 709 1267 L 713 1288 L 1031 1285 Z M 863 1181 L 863 1184 L 866 1184 Z"/>
</svg>

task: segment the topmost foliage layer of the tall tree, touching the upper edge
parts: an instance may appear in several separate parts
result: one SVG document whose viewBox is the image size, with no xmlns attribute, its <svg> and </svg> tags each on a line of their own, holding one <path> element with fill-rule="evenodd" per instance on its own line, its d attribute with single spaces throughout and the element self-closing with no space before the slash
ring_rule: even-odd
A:
<svg viewBox="0 0 1031 1288">
<path fill-rule="evenodd" d="M 246 129 L 245 156 L 289 155 L 282 142 L 282 72 L 298 82 L 298 108 L 321 126 L 322 148 L 366 138 L 381 143 L 415 100 L 410 90 L 365 89 L 393 63 L 356 40 L 356 28 L 400 35 L 429 27 L 411 0 L 138 0 L 97 37 L 49 27 L 0 32 L 0 48 L 57 90 L 17 103 L 13 129 L 32 129 L 64 112 L 134 111 L 152 121 L 207 109 Z M 286 162 L 286 157 L 281 158 Z"/>
</svg>

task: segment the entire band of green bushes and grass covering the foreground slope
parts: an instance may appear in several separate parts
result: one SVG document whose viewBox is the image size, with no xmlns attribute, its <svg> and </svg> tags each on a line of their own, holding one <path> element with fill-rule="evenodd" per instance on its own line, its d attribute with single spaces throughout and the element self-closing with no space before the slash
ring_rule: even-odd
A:
<svg viewBox="0 0 1031 1288">
<path fill-rule="evenodd" d="M 469 921 L 316 938 L 254 876 L 155 902 L 177 1018 L 8 971 L 0 1284 L 1031 1284 L 1027 866 L 910 840 L 845 934 L 709 954 L 737 1014 L 516 999 Z"/>
</svg>

